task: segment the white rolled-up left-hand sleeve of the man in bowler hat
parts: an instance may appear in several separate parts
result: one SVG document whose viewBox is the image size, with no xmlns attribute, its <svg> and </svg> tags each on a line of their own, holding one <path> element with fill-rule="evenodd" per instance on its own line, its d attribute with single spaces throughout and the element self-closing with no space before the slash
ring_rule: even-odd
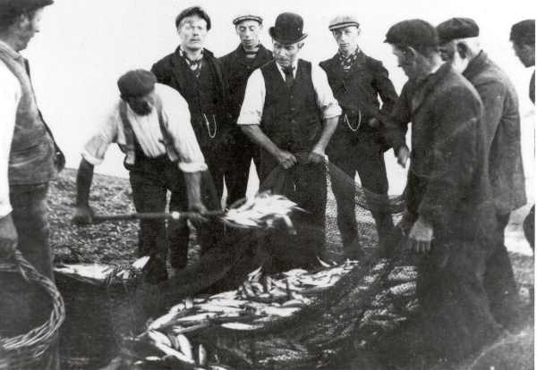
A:
<svg viewBox="0 0 537 370">
<path fill-rule="evenodd" d="M 267 90 L 263 74 L 260 69 L 257 69 L 251 73 L 246 84 L 241 114 L 239 114 L 237 120 L 238 125 L 261 124 L 266 94 Z"/>
</svg>

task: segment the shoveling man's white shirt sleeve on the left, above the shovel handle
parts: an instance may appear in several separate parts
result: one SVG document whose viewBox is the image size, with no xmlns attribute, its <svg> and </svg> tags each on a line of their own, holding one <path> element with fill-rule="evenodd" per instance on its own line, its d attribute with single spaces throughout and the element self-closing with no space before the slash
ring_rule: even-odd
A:
<svg viewBox="0 0 537 370">
<path fill-rule="evenodd" d="M 82 149 L 82 157 L 90 164 L 98 165 L 105 159 L 108 147 L 117 140 L 119 120 L 119 108 L 115 105 L 105 122 Z"/>
</svg>

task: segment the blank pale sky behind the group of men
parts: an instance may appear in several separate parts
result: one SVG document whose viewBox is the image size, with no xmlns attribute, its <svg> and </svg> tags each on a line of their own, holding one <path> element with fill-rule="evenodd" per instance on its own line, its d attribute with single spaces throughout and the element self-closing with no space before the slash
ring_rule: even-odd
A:
<svg viewBox="0 0 537 370">
<path fill-rule="evenodd" d="M 519 91 L 524 156 L 533 158 L 534 114 L 527 97 L 531 71 L 518 62 L 508 40 L 513 23 L 534 18 L 532 1 L 55 0 L 44 13 L 41 32 L 23 54 L 30 59 L 38 104 L 64 148 L 68 166 L 78 166 L 81 147 L 118 98 L 117 78 L 130 69 L 150 69 L 152 63 L 175 50 L 175 16 L 191 5 L 200 5 L 209 13 L 213 28 L 207 48 L 217 56 L 238 45 L 232 24 L 235 16 L 260 14 L 265 23 L 261 41 L 270 46 L 268 28 L 274 25 L 277 14 L 299 13 L 308 33 L 301 57 L 314 63 L 337 51 L 328 21 L 340 13 L 353 14 L 362 26 L 362 49 L 385 64 L 397 91 L 406 78 L 397 68 L 391 49 L 382 42 L 391 25 L 410 18 L 433 25 L 454 16 L 473 18 L 481 29 L 483 49 L 507 71 Z M 528 161 L 528 168 L 533 167 L 533 161 Z M 389 153 L 387 162 L 390 192 L 400 192 L 405 172 L 397 168 Z M 116 147 L 109 149 L 105 163 L 96 171 L 126 175 Z"/>
</svg>

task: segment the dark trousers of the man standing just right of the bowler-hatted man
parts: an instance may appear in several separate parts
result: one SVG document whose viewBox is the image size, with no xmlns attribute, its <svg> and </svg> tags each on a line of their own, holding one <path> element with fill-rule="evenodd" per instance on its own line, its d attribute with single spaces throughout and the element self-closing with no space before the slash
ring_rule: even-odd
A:
<svg viewBox="0 0 537 370">
<path fill-rule="evenodd" d="M 337 202 L 337 226 L 341 232 L 344 248 L 356 246 L 355 185 L 356 172 L 360 176 L 368 207 L 384 246 L 394 232 L 394 223 L 388 208 L 388 176 L 384 155 L 378 144 L 371 141 L 358 142 L 353 146 L 334 148 L 330 159 L 330 181 Z"/>
</svg>

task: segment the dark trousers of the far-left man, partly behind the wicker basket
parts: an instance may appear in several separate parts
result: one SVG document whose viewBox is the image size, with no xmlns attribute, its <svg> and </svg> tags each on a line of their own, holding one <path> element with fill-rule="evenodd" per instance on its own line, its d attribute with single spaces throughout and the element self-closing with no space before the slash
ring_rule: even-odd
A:
<svg viewBox="0 0 537 370">
<path fill-rule="evenodd" d="M 12 185 L 10 200 L 13 223 L 19 234 L 22 256 L 39 273 L 54 281 L 52 251 L 49 246 L 47 221 L 48 183 Z M 13 336 L 29 332 L 47 320 L 52 310 L 50 297 L 34 283 L 25 282 L 14 273 L 0 277 L 0 335 Z M 57 340 L 30 369 L 59 369 Z"/>
</svg>

